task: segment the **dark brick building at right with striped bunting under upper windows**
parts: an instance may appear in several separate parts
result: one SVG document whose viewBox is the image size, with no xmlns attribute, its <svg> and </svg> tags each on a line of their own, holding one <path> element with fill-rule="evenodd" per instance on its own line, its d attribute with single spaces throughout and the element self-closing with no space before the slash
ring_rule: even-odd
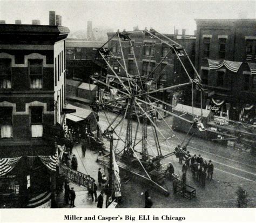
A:
<svg viewBox="0 0 256 223">
<path fill-rule="evenodd" d="M 256 19 L 196 19 L 196 23 L 195 66 L 208 89 L 203 107 L 212 108 L 217 116 L 252 124 L 256 107 Z"/>
</svg>

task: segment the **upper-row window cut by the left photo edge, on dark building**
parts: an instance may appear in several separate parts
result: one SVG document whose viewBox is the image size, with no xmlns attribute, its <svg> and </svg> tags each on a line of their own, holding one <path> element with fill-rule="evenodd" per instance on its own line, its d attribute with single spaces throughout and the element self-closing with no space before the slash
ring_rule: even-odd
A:
<svg viewBox="0 0 256 223">
<path fill-rule="evenodd" d="M 0 89 L 11 89 L 11 59 L 0 59 Z"/>
</svg>

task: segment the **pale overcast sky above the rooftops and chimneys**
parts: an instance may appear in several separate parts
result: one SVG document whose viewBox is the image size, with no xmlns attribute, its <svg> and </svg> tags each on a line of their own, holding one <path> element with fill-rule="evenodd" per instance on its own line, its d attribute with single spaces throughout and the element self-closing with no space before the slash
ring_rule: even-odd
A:
<svg viewBox="0 0 256 223">
<path fill-rule="evenodd" d="M 49 24 L 49 11 L 62 16 L 62 25 L 71 31 L 92 26 L 107 26 L 132 30 L 154 28 L 164 33 L 186 29 L 187 34 L 196 30 L 194 18 L 256 18 L 255 1 L 5 1 L 0 0 L 0 19 L 6 23 L 31 24 L 40 19 Z"/>
</svg>

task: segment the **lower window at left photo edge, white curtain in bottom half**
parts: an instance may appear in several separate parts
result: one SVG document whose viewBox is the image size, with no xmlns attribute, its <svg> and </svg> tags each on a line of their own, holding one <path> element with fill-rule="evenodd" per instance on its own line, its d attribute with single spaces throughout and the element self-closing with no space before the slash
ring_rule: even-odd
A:
<svg viewBox="0 0 256 223">
<path fill-rule="evenodd" d="M 0 138 L 12 138 L 12 107 L 0 107 Z"/>
</svg>

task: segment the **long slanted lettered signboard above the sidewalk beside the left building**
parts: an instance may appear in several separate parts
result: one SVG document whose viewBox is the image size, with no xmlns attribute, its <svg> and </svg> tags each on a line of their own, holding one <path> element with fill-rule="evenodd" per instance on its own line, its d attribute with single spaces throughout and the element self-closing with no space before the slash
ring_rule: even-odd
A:
<svg viewBox="0 0 256 223">
<path fill-rule="evenodd" d="M 79 186 L 87 187 L 89 181 L 93 182 L 93 178 L 90 177 L 90 175 L 72 170 L 71 168 L 61 164 L 59 165 L 59 172 L 60 174 L 64 175 L 66 179 Z"/>
</svg>

